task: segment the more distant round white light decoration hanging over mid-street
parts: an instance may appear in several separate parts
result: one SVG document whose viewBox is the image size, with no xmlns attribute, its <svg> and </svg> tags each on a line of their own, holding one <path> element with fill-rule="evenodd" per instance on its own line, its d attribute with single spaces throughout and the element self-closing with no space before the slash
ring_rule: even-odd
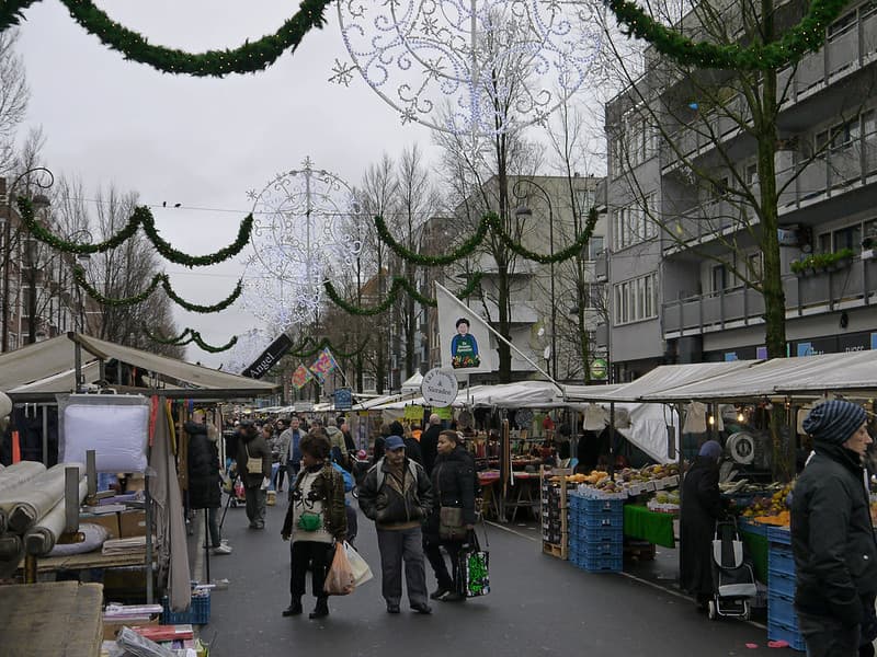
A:
<svg viewBox="0 0 877 657">
<path fill-rule="evenodd" d="M 301 169 L 278 173 L 248 196 L 258 218 L 244 308 L 280 331 L 312 321 L 323 283 L 353 266 L 362 251 L 365 215 L 353 189 L 306 158 Z"/>
</svg>

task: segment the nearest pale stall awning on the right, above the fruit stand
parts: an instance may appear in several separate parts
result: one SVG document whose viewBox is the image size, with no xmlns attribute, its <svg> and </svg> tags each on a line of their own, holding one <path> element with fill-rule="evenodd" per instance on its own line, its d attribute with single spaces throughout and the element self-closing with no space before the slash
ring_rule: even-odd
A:
<svg viewBox="0 0 877 657">
<path fill-rule="evenodd" d="M 645 400 L 748 400 L 752 397 L 877 390 L 877 350 L 773 358 L 685 385 L 667 388 Z"/>
</svg>

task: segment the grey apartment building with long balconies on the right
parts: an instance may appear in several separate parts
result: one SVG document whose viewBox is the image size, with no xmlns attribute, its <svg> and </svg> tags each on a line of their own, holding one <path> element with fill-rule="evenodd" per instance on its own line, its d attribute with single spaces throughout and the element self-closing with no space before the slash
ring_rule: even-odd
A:
<svg viewBox="0 0 877 657">
<path fill-rule="evenodd" d="M 605 108 L 608 240 L 597 276 L 610 308 L 597 343 L 616 381 L 663 362 L 766 355 L 764 301 L 744 284 L 762 266 L 760 220 L 744 203 L 760 192 L 755 141 L 705 106 L 691 79 L 652 54 L 646 61 Z M 704 78 L 745 115 L 721 74 Z M 787 351 L 877 348 L 877 4 L 851 3 L 821 50 L 781 72 L 778 90 Z M 846 249 L 833 270 L 802 266 Z"/>
</svg>

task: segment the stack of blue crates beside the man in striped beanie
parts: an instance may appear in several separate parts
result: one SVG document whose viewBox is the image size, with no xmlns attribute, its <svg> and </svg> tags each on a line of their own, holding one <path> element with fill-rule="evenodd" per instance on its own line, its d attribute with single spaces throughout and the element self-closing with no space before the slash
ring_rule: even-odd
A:
<svg viewBox="0 0 877 657">
<path fill-rule="evenodd" d="M 795 558 L 788 529 L 767 528 L 767 638 L 786 641 L 804 650 L 804 638 L 795 613 Z"/>
</svg>

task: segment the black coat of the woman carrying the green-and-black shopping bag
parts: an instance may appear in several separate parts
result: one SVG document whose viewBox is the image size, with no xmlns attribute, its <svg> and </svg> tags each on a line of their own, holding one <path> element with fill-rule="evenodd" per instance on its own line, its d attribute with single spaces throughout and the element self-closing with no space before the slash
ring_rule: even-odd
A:
<svg viewBox="0 0 877 657">
<path fill-rule="evenodd" d="M 463 523 L 475 525 L 477 519 L 475 499 L 481 494 L 475 460 L 463 447 L 449 454 L 438 454 L 432 471 L 433 506 L 423 533 L 438 537 L 440 509 L 457 507 L 463 509 Z"/>
</svg>

